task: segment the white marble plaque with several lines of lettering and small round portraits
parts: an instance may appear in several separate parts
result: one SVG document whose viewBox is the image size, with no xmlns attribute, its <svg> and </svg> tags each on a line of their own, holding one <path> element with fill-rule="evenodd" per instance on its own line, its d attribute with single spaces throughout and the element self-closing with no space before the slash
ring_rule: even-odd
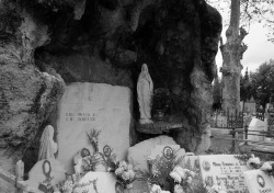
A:
<svg viewBox="0 0 274 193">
<path fill-rule="evenodd" d="M 235 155 L 199 156 L 202 179 L 206 186 L 226 186 L 230 193 L 248 193 L 243 172 L 249 168 Z"/>
</svg>

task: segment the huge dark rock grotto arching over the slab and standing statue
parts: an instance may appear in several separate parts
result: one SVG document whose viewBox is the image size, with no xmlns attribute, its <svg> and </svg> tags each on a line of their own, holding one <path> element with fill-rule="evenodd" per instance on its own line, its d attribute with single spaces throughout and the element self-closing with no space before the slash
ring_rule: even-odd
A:
<svg viewBox="0 0 274 193">
<path fill-rule="evenodd" d="M 3 146 L 27 147 L 62 80 L 130 88 L 138 120 L 135 87 L 146 63 L 155 88 L 171 93 L 167 113 L 185 128 L 170 136 L 205 150 L 221 18 L 204 0 L 2 0 L 0 9 Z M 133 124 L 132 145 L 148 137 Z"/>
</svg>

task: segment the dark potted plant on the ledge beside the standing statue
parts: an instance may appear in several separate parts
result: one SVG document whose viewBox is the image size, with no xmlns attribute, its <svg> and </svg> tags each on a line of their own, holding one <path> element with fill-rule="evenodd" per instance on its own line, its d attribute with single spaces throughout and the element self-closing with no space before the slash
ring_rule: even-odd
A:
<svg viewBox="0 0 274 193">
<path fill-rule="evenodd" d="M 165 88 L 158 88 L 153 93 L 152 110 L 157 120 L 162 120 L 170 106 L 170 91 Z"/>
</svg>

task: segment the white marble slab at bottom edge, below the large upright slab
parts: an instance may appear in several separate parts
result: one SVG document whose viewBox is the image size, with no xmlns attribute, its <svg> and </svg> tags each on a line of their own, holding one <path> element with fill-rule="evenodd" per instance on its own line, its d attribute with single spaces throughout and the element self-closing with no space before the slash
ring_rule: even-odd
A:
<svg viewBox="0 0 274 193">
<path fill-rule="evenodd" d="M 88 172 L 75 185 L 75 192 L 84 193 L 116 193 L 116 178 L 109 172 Z M 117 186 L 117 185 L 116 185 Z"/>
</svg>

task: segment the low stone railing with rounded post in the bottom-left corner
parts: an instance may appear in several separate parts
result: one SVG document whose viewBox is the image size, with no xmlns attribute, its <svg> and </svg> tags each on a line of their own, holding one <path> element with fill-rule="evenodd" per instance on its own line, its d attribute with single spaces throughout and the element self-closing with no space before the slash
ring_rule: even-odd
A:
<svg viewBox="0 0 274 193">
<path fill-rule="evenodd" d="M 12 186 L 14 186 L 18 193 L 43 193 L 41 190 L 36 188 L 32 188 L 25 181 L 23 181 L 24 175 L 24 163 L 23 161 L 18 161 L 15 168 L 15 175 L 5 172 L 0 168 L 0 178 L 9 182 Z"/>
</svg>

